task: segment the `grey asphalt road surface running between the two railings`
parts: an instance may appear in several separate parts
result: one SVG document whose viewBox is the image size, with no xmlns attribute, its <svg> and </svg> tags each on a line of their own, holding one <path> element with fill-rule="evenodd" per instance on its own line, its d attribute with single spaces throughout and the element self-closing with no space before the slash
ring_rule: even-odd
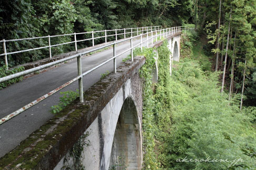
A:
<svg viewBox="0 0 256 170">
<path fill-rule="evenodd" d="M 145 38 L 143 38 L 145 40 Z M 151 42 L 151 41 L 149 41 Z M 133 40 L 133 45 L 140 43 L 140 40 Z M 143 44 L 146 46 L 146 42 Z M 120 54 L 125 49 L 130 48 L 130 40 L 116 47 L 116 54 Z M 130 52 L 117 58 L 117 67 L 122 64 L 122 58 L 127 57 Z M 104 50 L 92 56 L 82 57 L 82 72 L 90 70 L 101 62 L 113 57 L 113 48 Z M 94 83 L 100 80 L 101 74 L 106 71 L 113 71 L 113 61 L 92 71 L 83 77 L 83 90 L 87 90 Z M 24 105 L 40 98 L 42 95 L 52 91 L 62 84 L 70 81 L 77 76 L 76 60 L 65 63 L 64 65 L 49 69 L 38 75 L 12 84 L 0 90 L 0 119 L 4 116 L 22 108 Z M 78 89 L 78 81 L 65 87 L 61 91 Z M 61 97 L 60 92 L 34 105 L 34 107 L 17 115 L 15 118 L 0 125 L 0 157 L 13 150 L 21 141 L 25 140 L 29 134 L 33 133 L 46 121 L 53 117 L 51 106 L 58 103 Z"/>
</svg>

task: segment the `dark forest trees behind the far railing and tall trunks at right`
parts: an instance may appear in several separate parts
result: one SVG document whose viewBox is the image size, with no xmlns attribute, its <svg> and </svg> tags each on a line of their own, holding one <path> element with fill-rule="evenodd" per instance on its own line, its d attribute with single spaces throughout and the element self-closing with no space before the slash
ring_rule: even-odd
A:
<svg viewBox="0 0 256 170">
<path fill-rule="evenodd" d="M 215 62 L 213 69 L 223 71 L 221 91 L 224 87 L 229 90 L 229 98 L 231 94 L 241 92 L 241 100 L 245 100 L 245 104 L 255 105 L 255 8 L 255 0 L 1 1 L 0 37 L 16 39 L 92 30 L 194 24 L 201 37 L 208 37 L 209 43 L 203 50 L 214 55 L 210 58 Z M 66 42 L 72 38 L 58 37 L 51 43 Z M 95 43 L 101 41 L 97 39 Z M 47 43 L 47 39 L 10 42 L 7 51 L 46 46 Z M 78 44 L 78 48 L 87 46 L 91 46 L 91 42 Z M 3 51 L 2 46 L 0 50 Z M 71 50 L 73 47 L 64 45 L 52 51 L 56 55 Z M 8 62 L 12 67 L 45 57 L 48 57 L 47 49 L 9 55 Z M 4 66 L 4 57 L 0 58 L 0 66 Z"/>
</svg>

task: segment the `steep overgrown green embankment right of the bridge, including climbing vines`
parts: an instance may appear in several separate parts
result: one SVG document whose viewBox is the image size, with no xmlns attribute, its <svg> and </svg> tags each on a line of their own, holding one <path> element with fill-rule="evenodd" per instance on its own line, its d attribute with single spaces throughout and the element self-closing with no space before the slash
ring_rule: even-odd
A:
<svg viewBox="0 0 256 170">
<path fill-rule="evenodd" d="M 144 167 L 253 169 L 256 167 L 253 109 L 240 112 L 237 100 L 228 101 L 228 95 L 220 93 L 220 72 L 211 71 L 206 55 L 198 56 L 200 48 L 192 50 L 195 39 L 195 34 L 183 36 L 185 58 L 174 63 L 172 76 L 166 64 L 169 61 L 167 43 L 158 49 L 157 84 L 151 83 L 150 75 L 153 50 L 143 51 L 147 56 L 141 70 L 145 78 Z"/>
</svg>

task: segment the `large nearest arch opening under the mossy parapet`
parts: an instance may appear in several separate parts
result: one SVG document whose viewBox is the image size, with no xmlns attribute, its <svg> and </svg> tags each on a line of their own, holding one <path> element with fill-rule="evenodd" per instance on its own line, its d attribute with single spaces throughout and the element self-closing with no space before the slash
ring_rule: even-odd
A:
<svg viewBox="0 0 256 170">
<path fill-rule="evenodd" d="M 142 169 L 140 125 L 130 97 L 125 99 L 116 124 L 109 169 Z"/>
</svg>

